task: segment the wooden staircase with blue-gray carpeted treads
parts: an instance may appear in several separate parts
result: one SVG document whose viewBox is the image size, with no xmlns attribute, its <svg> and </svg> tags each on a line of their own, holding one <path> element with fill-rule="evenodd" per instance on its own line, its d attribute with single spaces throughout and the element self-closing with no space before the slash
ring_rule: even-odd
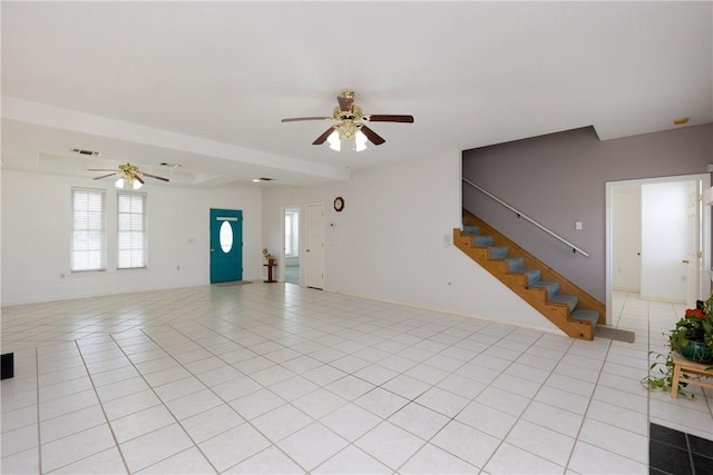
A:
<svg viewBox="0 0 713 475">
<path fill-rule="evenodd" d="M 463 229 L 453 229 L 453 244 L 519 295 L 572 338 L 594 339 L 606 308 L 556 270 L 475 215 L 463 210 Z"/>
</svg>

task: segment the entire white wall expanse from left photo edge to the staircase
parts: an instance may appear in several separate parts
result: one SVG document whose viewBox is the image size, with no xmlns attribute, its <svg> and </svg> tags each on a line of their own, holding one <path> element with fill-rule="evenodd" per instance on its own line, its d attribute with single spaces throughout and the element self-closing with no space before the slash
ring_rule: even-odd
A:
<svg viewBox="0 0 713 475">
<path fill-rule="evenodd" d="M 325 291 L 558 331 L 450 244 L 461 222 L 460 174 L 461 156 L 453 151 L 314 188 L 147 185 L 149 268 L 71 275 L 70 189 L 107 188 L 110 210 L 111 182 L 3 170 L 2 305 L 208 284 L 212 207 L 243 210 L 243 277 L 258 279 L 262 247 L 282 245 L 281 207 L 324 202 Z M 332 208 L 336 196 L 345 199 L 340 214 Z"/>
</svg>

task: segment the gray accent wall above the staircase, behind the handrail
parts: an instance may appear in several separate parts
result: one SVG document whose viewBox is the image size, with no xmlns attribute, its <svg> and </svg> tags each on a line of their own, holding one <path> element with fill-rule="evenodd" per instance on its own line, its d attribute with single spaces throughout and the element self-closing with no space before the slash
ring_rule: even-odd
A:
<svg viewBox="0 0 713 475">
<path fill-rule="evenodd" d="M 584 249 L 573 254 L 463 184 L 463 207 L 606 301 L 607 181 L 706 172 L 713 123 L 602 141 L 593 127 L 466 150 L 462 175 Z M 706 207 L 706 212 L 710 208 Z M 575 222 L 582 221 L 582 230 Z"/>
</svg>

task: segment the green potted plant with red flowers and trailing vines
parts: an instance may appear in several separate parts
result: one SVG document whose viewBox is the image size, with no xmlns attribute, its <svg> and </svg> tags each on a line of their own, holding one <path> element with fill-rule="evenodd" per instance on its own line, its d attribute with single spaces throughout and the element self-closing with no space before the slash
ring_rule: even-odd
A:
<svg viewBox="0 0 713 475">
<path fill-rule="evenodd" d="M 678 352 L 684 358 L 696 363 L 713 363 L 713 295 L 705 301 L 700 301 L 696 308 L 688 308 L 684 316 L 676 321 L 668 333 L 668 355 L 656 355 L 656 360 L 649 369 L 658 369 L 658 376 L 647 376 L 642 384 L 647 389 L 671 390 L 673 384 L 673 352 Z M 652 352 L 653 354 L 653 352 Z M 662 363 L 663 359 L 663 363 Z M 697 377 L 697 376 L 696 376 Z M 685 379 L 691 377 L 683 374 L 678 383 L 678 393 L 686 395 L 683 388 L 687 386 Z"/>
</svg>

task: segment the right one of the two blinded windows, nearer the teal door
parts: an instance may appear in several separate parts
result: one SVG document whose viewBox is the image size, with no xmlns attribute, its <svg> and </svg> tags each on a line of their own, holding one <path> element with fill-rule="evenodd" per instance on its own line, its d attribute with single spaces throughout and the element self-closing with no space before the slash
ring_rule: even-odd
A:
<svg viewBox="0 0 713 475">
<path fill-rule="evenodd" d="M 119 269 L 146 267 L 146 195 L 117 194 Z"/>
</svg>

